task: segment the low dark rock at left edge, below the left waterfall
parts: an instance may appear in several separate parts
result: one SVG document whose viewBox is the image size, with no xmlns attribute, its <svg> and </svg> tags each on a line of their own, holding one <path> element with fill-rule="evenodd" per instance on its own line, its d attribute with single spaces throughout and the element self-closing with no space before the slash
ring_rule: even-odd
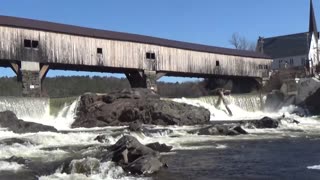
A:
<svg viewBox="0 0 320 180">
<path fill-rule="evenodd" d="M 26 122 L 18 119 L 12 111 L 0 112 L 0 126 L 8 128 L 8 130 L 14 133 L 31 133 L 40 131 L 57 132 L 52 126 L 46 126 L 34 122 Z"/>
</svg>

